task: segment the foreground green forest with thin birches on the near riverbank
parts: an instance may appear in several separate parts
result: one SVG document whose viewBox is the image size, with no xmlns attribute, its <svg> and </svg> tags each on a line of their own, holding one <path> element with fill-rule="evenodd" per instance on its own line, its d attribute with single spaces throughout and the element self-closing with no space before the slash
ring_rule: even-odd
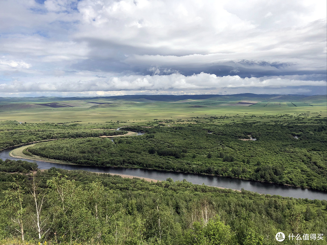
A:
<svg viewBox="0 0 327 245">
<path fill-rule="evenodd" d="M 288 238 L 327 233 L 325 200 L 55 168 L 32 175 L 36 165 L 24 161 L 0 167 L 0 244 L 276 244 L 277 232 L 280 244 L 326 244 Z"/>
</svg>

